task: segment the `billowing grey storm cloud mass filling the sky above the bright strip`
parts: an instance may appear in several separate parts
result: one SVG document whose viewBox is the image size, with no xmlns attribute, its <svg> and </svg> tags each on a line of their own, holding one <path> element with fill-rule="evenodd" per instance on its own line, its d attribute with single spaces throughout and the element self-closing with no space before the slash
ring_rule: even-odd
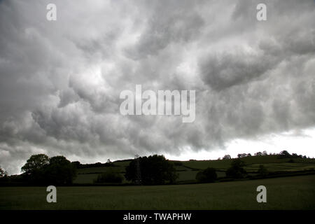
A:
<svg viewBox="0 0 315 224">
<path fill-rule="evenodd" d="M 314 21 L 313 0 L 0 1 L 0 165 L 214 151 L 315 127 Z M 196 90 L 195 122 L 120 115 L 136 84 Z"/>
</svg>

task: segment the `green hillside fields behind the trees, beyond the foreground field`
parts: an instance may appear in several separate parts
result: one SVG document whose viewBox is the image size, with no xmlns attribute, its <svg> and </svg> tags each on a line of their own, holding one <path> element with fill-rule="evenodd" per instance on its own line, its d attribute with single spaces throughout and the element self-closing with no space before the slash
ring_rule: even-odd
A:
<svg viewBox="0 0 315 224">
<path fill-rule="evenodd" d="M 246 164 L 247 172 L 257 172 L 260 165 L 264 165 L 269 172 L 294 172 L 303 171 L 305 169 L 315 169 L 314 159 L 300 159 L 295 158 L 293 162 L 289 162 L 289 158 L 279 159 L 277 155 L 264 155 L 264 156 L 251 156 L 241 158 Z M 179 162 L 179 161 L 177 161 Z M 178 183 L 188 183 L 195 181 L 197 172 L 207 167 L 214 167 L 218 169 L 218 177 L 224 177 L 225 171 L 230 167 L 232 160 L 190 160 L 181 161 L 181 165 L 176 165 L 177 174 L 179 179 Z M 115 167 L 92 167 L 85 169 L 78 169 L 78 176 L 74 180 L 74 183 L 93 183 L 94 179 L 97 179 L 98 174 L 106 172 L 107 169 L 113 169 L 115 172 L 125 174 L 125 167 L 129 165 L 128 161 L 113 162 Z M 125 179 L 123 183 L 128 183 Z"/>
</svg>

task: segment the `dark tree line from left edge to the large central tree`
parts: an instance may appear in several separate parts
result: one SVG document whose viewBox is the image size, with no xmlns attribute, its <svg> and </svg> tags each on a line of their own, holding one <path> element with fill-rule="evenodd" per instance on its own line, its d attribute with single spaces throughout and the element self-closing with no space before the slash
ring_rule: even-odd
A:
<svg viewBox="0 0 315 224">
<path fill-rule="evenodd" d="M 139 168 L 137 168 L 139 162 Z M 100 162 L 92 165 L 81 165 L 80 162 L 70 162 L 64 156 L 55 156 L 49 158 L 45 154 L 31 155 L 20 175 L 10 176 L 11 181 L 30 183 L 34 185 L 71 185 L 76 178 L 76 170 L 90 167 L 109 167 L 106 172 L 99 174 L 94 183 L 121 183 L 123 176 L 114 172 L 113 162 L 108 160 L 106 164 Z M 174 183 L 177 178 L 176 169 L 173 162 L 166 160 L 163 155 L 151 155 L 131 160 L 125 168 L 125 179 L 135 183 L 139 180 L 137 169 L 141 170 L 141 184 L 159 185 L 165 183 Z M 8 181 L 8 175 L 0 168 L 1 181 Z"/>
</svg>

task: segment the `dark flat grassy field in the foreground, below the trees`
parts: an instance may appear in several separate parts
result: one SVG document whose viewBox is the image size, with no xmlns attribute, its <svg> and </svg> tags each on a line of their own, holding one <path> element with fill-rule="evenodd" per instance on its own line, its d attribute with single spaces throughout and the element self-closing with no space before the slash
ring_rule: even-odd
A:
<svg viewBox="0 0 315 224">
<path fill-rule="evenodd" d="M 1 187 L 0 209 L 315 209 L 315 175 L 173 186 Z M 266 186 L 267 203 L 256 201 Z"/>
</svg>

